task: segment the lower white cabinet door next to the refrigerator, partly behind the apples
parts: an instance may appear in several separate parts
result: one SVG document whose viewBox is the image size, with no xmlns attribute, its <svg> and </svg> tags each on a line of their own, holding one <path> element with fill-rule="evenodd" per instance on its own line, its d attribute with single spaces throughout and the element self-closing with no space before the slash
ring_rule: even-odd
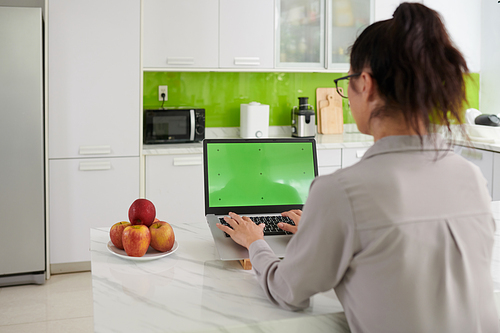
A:
<svg viewBox="0 0 500 333">
<path fill-rule="evenodd" d="M 49 161 L 50 263 L 90 261 L 90 228 L 128 221 L 139 157 Z"/>
</svg>

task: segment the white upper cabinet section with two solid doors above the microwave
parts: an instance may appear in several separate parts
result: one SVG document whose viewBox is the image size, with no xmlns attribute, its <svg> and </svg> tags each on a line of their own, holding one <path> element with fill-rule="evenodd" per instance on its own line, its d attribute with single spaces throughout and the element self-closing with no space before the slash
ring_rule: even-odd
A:
<svg viewBox="0 0 500 333">
<path fill-rule="evenodd" d="M 270 0 L 145 0 L 144 68 L 273 68 Z"/>
</svg>

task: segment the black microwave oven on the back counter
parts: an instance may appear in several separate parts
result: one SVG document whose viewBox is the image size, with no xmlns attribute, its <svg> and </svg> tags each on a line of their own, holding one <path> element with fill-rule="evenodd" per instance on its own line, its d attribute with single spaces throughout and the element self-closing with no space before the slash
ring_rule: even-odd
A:
<svg viewBox="0 0 500 333">
<path fill-rule="evenodd" d="M 198 142 L 205 138 L 205 109 L 144 110 L 144 144 Z"/>
</svg>

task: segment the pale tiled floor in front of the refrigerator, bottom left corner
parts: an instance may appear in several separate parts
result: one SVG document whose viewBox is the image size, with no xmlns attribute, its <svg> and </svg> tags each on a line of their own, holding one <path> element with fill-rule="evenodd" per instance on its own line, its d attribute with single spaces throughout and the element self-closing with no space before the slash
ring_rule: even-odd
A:
<svg viewBox="0 0 500 333">
<path fill-rule="evenodd" d="M 93 331 L 90 272 L 52 275 L 44 285 L 0 288 L 0 333 Z"/>
</svg>

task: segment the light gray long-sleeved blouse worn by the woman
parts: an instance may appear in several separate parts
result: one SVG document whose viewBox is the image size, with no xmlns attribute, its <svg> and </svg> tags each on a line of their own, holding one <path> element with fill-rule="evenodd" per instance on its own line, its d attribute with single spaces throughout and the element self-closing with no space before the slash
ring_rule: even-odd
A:
<svg viewBox="0 0 500 333">
<path fill-rule="evenodd" d="M 264 240 L 250 259 L 284 308 L 334 288 L 352 332 L 498 332 L 490 201 L 440 136 L 389 136 L 314 180 L 283 260 Z"/>
</svg>

